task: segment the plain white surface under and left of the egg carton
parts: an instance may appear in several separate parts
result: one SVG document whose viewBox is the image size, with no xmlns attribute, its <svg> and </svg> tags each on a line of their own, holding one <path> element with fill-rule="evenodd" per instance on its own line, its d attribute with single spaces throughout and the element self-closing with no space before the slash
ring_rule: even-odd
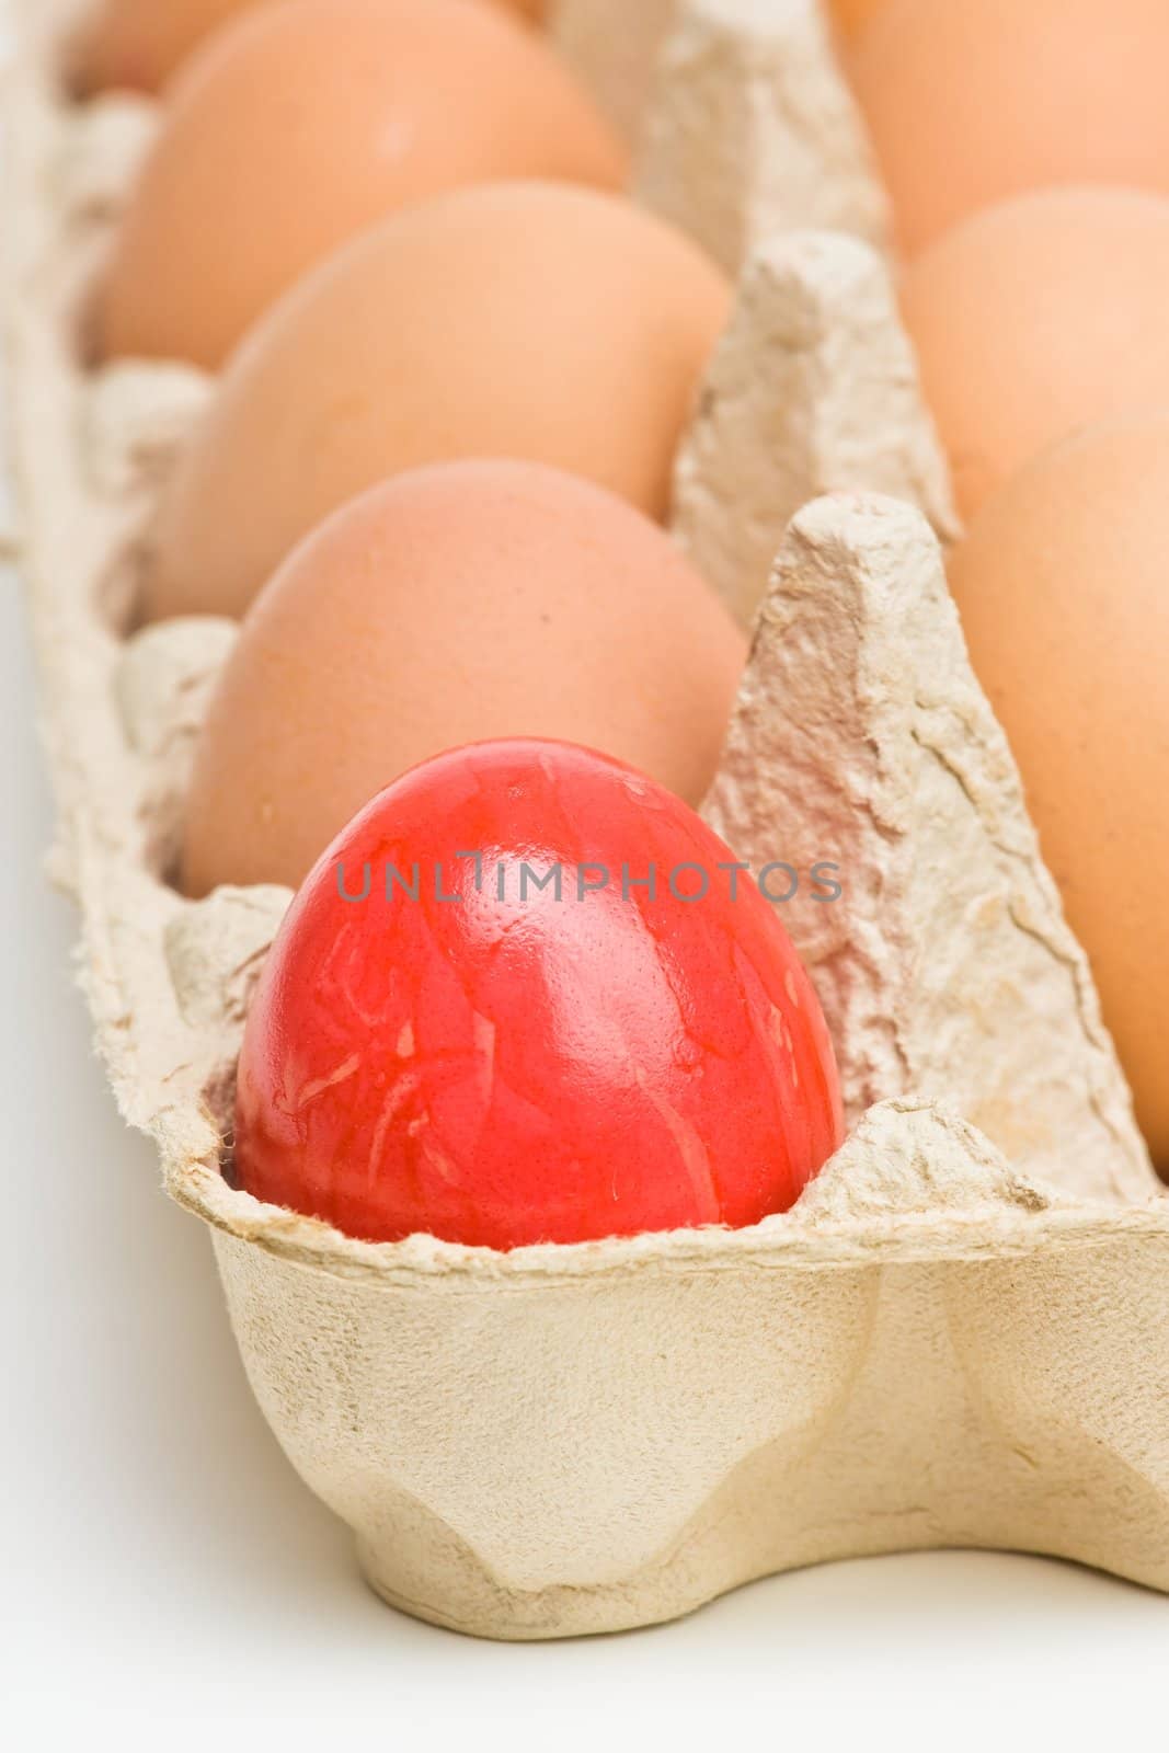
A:
<svg viewBox="0 0 1169 1753">
<path fill-rule="evenodd" d="M 375 1600 L 251 1401 L 207 1236 L 158 1190 L 91 1057 L 72 908 L 42 876 L 51 806 L 7 575 L 0 738 L 7 1746 L 95 1718 L 102 1744 L 172 1748 L 214 1721 L 219 1744 L 252 1746 L 280 1721 L 282 1744 L 329 1753 L 356 1723 L 405 1748 L 1015 1748 L 1032 1720 L 1043 1746 L 1125 1721 L 1167 1744 L 1169 1602 L 1036 1558 L 841 1564 L 543 1646 Z"/>
</svg>

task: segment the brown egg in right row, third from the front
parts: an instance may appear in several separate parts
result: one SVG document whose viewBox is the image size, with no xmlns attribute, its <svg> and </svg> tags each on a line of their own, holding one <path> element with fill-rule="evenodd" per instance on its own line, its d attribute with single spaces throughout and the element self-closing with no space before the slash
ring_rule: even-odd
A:
<svg viewBox="0 0 1169 1753">
<path fill-rule="evenodd" d="M 906 251 L 1008 195 L 1169 191 L 1164 0 L 897 0 L 852 74 Z"/>
</svg>

